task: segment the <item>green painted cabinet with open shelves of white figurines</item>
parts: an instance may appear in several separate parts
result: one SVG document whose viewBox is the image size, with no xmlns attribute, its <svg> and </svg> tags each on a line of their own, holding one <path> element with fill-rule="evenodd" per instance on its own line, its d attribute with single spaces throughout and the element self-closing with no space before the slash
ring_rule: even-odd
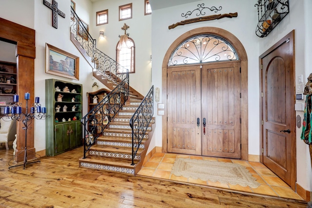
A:
<svg viewBox="0 0 312 208">
<path fill-rule="evenodd" d="M 82 145 L 82 85 L 45 80 L 46 155 L 55 156 Z"/>
</svg>

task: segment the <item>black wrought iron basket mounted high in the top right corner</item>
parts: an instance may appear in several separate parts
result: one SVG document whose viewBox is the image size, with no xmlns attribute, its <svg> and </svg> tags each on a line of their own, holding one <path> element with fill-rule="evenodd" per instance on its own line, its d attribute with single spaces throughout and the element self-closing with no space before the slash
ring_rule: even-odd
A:
<svg viewBox="0 0 312 208">
<path fill-rule="evenodd" d="M 258 24 L 255 34 L 264 38 L 289 13 L 288 0 L 258 0 Z"/>
</svg>

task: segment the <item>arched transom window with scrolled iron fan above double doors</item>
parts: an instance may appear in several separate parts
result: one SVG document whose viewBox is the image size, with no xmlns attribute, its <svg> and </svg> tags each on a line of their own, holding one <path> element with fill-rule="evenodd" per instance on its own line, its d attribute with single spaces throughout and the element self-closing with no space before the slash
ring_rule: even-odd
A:
<svg viewBox="0 0 312 208">
<path fill-rule="evenodd" d="M 238 60 L 238 56 L 228 41 L 213 35 L 198 35 L 176 48 L 168 66 L 231 60 Z"/>
</svg>

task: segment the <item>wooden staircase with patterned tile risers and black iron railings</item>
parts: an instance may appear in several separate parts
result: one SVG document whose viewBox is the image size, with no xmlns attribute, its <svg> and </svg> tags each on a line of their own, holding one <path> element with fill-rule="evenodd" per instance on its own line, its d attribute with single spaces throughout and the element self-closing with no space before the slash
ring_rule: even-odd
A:
<svg viewBox="0 0 312 208">
<path fill-rule="evenodd" d="M 117 106 L 119 110 L 110 116 L 109 123 L 104 125 L 102 120 L 98 123 L 100 132 L 93 129 L 96 125 L 90 125 L 92 119 L 98 115 L 91 111 L 81 119 L 86 138 L 84 156 L 79 159 L 79 166 L 136 175 L 143 165 L 155 129 L 154 87 L 145 97 L 131 88 L 129 74 L 125 76 L 117 73 L 118 68 L 122 66 L 96 48 L 96 40 L 84 28 L 73 8 L 71 12 L 71 40 L 94 68 L 93 76 L 114 93 L 107 95 L 107 100 L 116 95 L 120 98 L 121 94 L 126 94 L 124 104 L 120 103 Z M 80 28 L 79 31 L 77 28 Z M 127 83 L 122 84 L 126 79 L 128 79 Z M 105 98 L 96 106 L 97 112 L 98 110 L 101 112 L 100 117 L 107 115 L 103 110 L 104 103 Z M 116 109 L 116 105 L 113 109 Z"/>
</svg>

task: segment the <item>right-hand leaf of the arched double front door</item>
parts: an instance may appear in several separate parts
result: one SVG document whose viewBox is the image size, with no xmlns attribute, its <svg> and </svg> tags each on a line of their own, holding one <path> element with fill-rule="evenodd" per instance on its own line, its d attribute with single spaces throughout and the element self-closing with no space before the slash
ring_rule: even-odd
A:
<svg viewBox="0 0 312 208">
<path fill-rule="evenodd" d="M 203 155 L 240 158 L 239 62 L 204 65 L 202 70 Z"/>
</svg>

